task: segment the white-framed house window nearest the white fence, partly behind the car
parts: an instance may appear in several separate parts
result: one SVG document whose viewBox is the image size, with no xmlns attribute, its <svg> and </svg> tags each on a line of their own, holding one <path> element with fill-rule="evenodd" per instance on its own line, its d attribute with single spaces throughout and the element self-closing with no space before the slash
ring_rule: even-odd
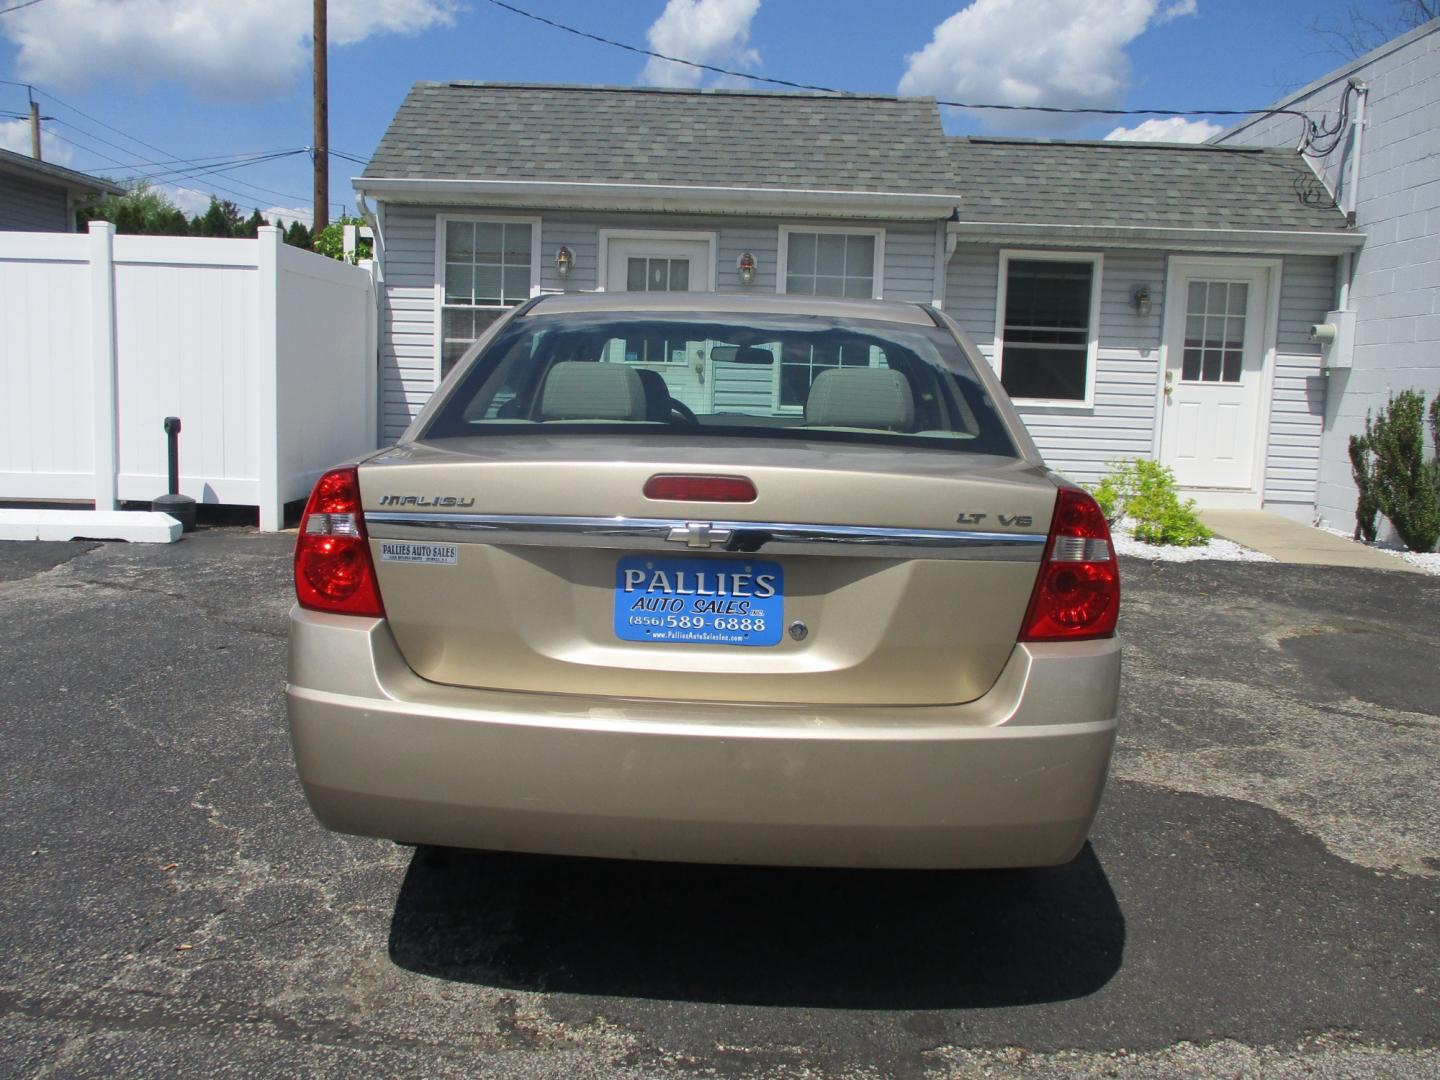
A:
<svg viewBox="0 0 1440 1080">
<path fill-rule="evenodd" d="M 530 298 L 536 232 L 533 222 L 444 222 L 442 379 L 491 323 Z"/>
</svg>

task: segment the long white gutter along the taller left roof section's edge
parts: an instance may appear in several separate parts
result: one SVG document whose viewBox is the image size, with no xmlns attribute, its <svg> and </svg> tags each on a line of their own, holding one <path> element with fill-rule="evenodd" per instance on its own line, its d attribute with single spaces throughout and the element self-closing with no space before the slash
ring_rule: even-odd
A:
<svg viewBox="0 0 1440 1080">
<path fill-rule="evenodd" d="M 387 203 L 484 204 L 544 210 L 665 210 L 776 217 L 936 220 L 955 213 L 956 193 L 834 192 L 808 187 L 619 184 L 556 180 L 410 180 L 360 176 L 360 194 Z"/>
</svg>

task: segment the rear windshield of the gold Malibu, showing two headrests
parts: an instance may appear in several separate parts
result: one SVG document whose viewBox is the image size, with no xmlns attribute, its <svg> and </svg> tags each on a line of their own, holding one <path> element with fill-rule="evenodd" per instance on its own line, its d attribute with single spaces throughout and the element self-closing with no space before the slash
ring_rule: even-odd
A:
<svg viewBox="0 0 1440 1080">
<path fill-rule="evenodd" d="M 948 331 L 828 315 L 516 318 L 456 373 L 420 438 L 644 432 L 1017 456 Z"/>
</svg>

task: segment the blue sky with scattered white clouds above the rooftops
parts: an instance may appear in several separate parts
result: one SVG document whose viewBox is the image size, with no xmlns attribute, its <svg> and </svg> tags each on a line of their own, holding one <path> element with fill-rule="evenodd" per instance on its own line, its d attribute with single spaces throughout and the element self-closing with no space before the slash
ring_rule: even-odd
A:
<svg viewBox="0 0 1440 1080">
<path fill-rule="evenodd" d="M 0 0 L 0 7 L 17 0 Z M 1354 0 L 514 0 L 556 22 L 795 82 L 965 101 L 1120 108 L 1266 105 L 1342 62 L 1316 24 Z M 1388 13 L 1394 0 L 1368 0 Z M 0 79 L 32 84 L 46 157 L 153 176 L 187 210 L 210 192 L 308 215 L 310 3 L 37 0 L 0 14 Z M 562 33 L 487 0 L 330 0 L 330 144 L 367 158 L 420 79 L 744 85 Z M 765 84 L 753 84 L 765 88 Z M 0 145 L 29 153 L 23 85 L 0 84 Z M 952 132 L 1104 138 L 1143 117 L 946 111 Z M 1204 137 L 1175 122 L 1166 138 Z M 1223 118 L 1217 122 L 1225 122 Z M 1149 131 L 1149 130 L 1148 130 Z M 209 160 L 209 161 L 206 161 Z M 184 164 L 199 163 L 199 164 Z M 223 173 L 200 174 L 200 166 Z M 331 163 L 331 215 L 360 166 Z"/>
</svg>

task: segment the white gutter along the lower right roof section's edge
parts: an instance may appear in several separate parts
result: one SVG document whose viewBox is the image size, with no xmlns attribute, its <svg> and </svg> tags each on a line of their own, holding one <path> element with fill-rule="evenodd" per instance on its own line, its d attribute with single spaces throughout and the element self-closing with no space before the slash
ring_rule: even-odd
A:
<svg viewBox="0 0 1440 1080">
<path fill-rule="evenodd" d="M 1165 248 L 1266 255 L 1344 255 L 1365 246 L 1351 229 L 1185 229 L 1130 225 L 950 222 L 958 243 L 1030 243 L 1044 248 Z"/>
</svg>

